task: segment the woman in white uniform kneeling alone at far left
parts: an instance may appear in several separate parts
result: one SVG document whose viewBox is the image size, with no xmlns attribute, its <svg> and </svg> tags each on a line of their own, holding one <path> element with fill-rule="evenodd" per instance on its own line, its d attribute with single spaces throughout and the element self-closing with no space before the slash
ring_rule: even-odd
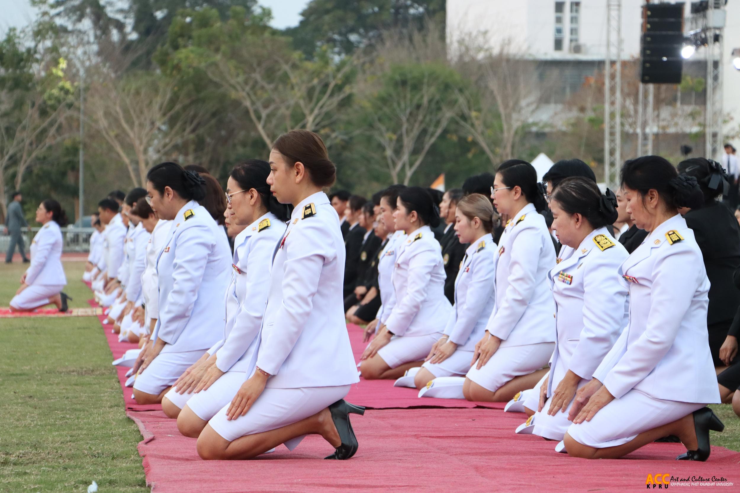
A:
<svg viewBox="0 0 740 493">
<path fill-rule="evenodd" d="M 21 287 L 10 300 L 11 312 L 30 312 L 53 303 L 60 312 L 67 311 L 71 299 L 61 289 L 67 284 L 61 265 L 61 230 L 67 224 L 67 215 L 59 203 L 51 198 L 36 209 L 36 222 L 41 229 L 31 242 L 31 265 L 21 276 Z"/>
</svg>

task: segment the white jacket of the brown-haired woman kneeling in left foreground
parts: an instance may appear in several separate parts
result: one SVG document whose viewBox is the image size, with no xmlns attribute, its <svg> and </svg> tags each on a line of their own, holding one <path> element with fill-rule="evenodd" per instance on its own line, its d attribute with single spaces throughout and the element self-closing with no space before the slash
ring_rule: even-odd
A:
<svg viewBox="0 0 740 493">
<path fill-rule="evenodd" d="M 357 383 L 344 320 L 345 249 L 339 216 L 324 192 L 300 201 L 274 250 L 256 365 L 278 389 Z"/>
</svg>

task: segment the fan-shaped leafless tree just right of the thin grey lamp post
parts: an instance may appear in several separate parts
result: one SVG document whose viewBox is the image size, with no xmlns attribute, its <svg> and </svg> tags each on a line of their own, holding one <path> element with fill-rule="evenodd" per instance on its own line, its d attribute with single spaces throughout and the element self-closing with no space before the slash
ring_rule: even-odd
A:
<svg viewBox="0 0 740 493">
<path fill-rule="evenodd" d="M 171 158 L 178 146 L 207 125 L 192 98 L 158 74 L 115 78 L 101 70 L 90 84 L 86 119 L 141 186 L 147 170 Z"/>
</svg>

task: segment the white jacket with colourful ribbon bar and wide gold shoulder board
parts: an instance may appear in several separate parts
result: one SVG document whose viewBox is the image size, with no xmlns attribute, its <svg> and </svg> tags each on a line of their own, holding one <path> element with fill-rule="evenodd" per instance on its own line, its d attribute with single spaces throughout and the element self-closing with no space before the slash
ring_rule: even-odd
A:
<svg viewBox="0 0 740 493">
<path fill-rule="evenodd" d="M 548 274 L 557 331 L 548 397 L 568 370 L 591 380 L 627 325 L 628 286 L 617 270 L 628 256 L 605 227 L 594 229 L 576 249 L 562 246 Z"/>
</svg>

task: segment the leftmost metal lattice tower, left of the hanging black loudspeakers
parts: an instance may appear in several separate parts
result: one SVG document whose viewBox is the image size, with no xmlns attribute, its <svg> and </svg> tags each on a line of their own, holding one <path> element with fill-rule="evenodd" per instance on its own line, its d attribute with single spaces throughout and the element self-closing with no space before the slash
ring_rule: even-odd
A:
<svg viewBox="0 0 740 493">
<path fill-rule="evenodd" d="M 607 0 L 604 81 L 604 181 L 614 190 L 622 165 L 622 0 Z"/>
</svg>

